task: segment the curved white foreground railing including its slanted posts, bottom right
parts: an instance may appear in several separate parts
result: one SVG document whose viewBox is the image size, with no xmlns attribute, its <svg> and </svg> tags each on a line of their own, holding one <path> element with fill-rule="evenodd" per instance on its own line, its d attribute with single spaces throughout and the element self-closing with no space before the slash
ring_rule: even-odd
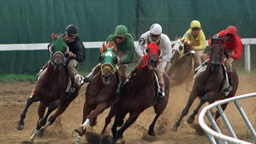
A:
<svg viewBox="0 0 256 144">
<path fill-rule="evenodd" d="M 229 102 L 235 102 L 236 107 L 240 111 L 240 114 L 242 115 L 243 120 L 246 122 L 247 127 L 251 131 L 251 134 L 253 135 L 254 140 L 256 140 L 256 133 L 255 133 L 253 127 L 252 127 L 252 124 L 249 122 L 249 120 L 248 120 L 245 112 L 243 111 L 241 105 L 238 103 L 239 99 L 250 98 L 250 97 L 255 97 L 255 96 L 256 96 L 256 92 L 248 93 L 246 95 L 241 95 L 241 96 L 236 96 L 236 97 L 224 99 L 222 101 L 218 101 L 218 102 L 212 103 L 210 105 L 207 105 L 205 108 L 203 108 L 202 111 L 200 112 L 200 115 L 199 115 L 199 124 L 200 124 L 201 128 L 203 129 L 203 131 L 205 132 L 206 136 L 208 137 L 208 140 L 211 143 L 230 142 L 230 143 L 241 143 L 241 144 L 249 144 L 250 143 L 250 144 L 252 144 L 251 142 L 239 140 L 239 139 L 236 138 L 235 133 L 232 130 L 228 120 L 226 119 L 225 114 L 224 114 L 222 108 L 220 107 L 220 105 L 225 104 L 225 103 L 229 103 Z M 214 121 L 214 119 L 212 117 L 212 114 L 210 112 L 210 109 L 212 109 L 212 108 L 217 108 L 218 111 L 220 111 L 219 113 L 220 113 L 221 117 L 223 118 L 223 121 L 224 121 L 226 127 L 229 129 L 229 132 L 232 135 L 232 137 L 227 136 L 227 135 L 223 135 L 220 132 L 220 130 L 219 130 L 219 128 L 218 128 L 216 122 Z M 213 128 L 216 131 L 212 130 L 211 128 L 209 128 L 206 125 L 205 120 L 203 119 L 205 117 L 205 115 L 207 115 L 208 120 L 210 120 Z M 216 142 L 216 140 L 217 140 L 217 142 Z"/>
</svg>

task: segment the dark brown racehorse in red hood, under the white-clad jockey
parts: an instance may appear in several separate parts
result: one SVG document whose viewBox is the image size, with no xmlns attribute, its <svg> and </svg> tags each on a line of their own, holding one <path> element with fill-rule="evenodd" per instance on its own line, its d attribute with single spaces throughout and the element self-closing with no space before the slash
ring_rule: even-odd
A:
<svg viewBox="0 0 256 144">
<path fill-rule="evenodd" d="M 158 103 L 156 97 L 158 85 L 155 80 L 156 75 L 154 74 L 154 70 L 159 62 L 159 47 L 155 43 L 150 43 L 145 51 L 147 54 L 144 55 L 135 76 L 126 80 L 121 90 L 119 101 L 111 107 L 106 117 L 102 133 L 104 133 L 111 118 L 115 115 L 112 127 L 113 143 L 120 139 L 124 131 L 137 120 L 138 116 L 151 106 L 154 107 L 156 116 L 149 126 L 148 134 L 155 135 L 155 122 L 166 108 L 170 90 L 170 82 L 166 73 L 164 73 L 165 99 L 161 103 Z M 128 112 L 130 116 L 123 124 L 124 117 Z M 122 124 L 123 126 L 117 130 L 117 126 L 121 126 Z"/>
</svg>

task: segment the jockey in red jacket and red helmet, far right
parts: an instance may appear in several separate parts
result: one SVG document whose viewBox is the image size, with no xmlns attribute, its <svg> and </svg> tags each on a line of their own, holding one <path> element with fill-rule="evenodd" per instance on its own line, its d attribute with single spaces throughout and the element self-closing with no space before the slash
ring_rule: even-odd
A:
<svg viewBox="0 0 256 144">
<path fill-rule="evenodd" d="M 243 44 L 240 37 L 237 35 L 237 30 L 235 26 L 229 26 L 228 28 L 220 31 L 213 37 L 220 37 L 220 39 L 225 39 L 224 41 L 224 54 L 226 60 L 224 66 L 226 67 L 226 73 L 228 74 L 229 87 L 226 91 L 232 91 L 232 61 L 241 58 Z M 211 39 L 208 40 L 208 45 L 210 46 Z"/>
</svg>

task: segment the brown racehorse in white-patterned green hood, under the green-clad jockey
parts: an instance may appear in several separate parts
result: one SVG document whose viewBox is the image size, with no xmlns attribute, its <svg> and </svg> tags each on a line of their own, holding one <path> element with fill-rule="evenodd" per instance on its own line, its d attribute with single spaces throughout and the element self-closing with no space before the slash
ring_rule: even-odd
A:
<svg viewBox="0 0 256 144">
<path fill-rule="evenodd" d="M 110 48 L 109 45 L 112 45 Z M 88 84 L 85 92 L 85 103 L 83 112 L 83 124 L 74 130 L 78 132 L 79 136 L 76 143 L 80 143 L 82 135 L 85 133 L 85 127 L 88 123 L 93 127 L 97 123 L 97 116 L 100 115 L 110 105 L 116 103 L 119 99 L 115 95 L 120 81 L 119 73 L 117 71 L 118 58 L 115 56 L 117 48 L 115 43 L 104 43 L 101 48 L 103 53 L 100 57 L 101 72 L 98 72 Z"/>
</svg>

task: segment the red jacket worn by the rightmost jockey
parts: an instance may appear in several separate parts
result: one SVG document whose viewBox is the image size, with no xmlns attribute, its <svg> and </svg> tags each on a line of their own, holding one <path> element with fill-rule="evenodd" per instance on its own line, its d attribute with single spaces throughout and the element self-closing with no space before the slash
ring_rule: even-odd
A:
<svg viewBox="0 0 256 144">
<path fill-rule="evenodd" d="M 218 34 L 220 38 L 223 38 L 226 34 L 226 30 L 220 31 Z M 208 40 L 208 45 L 210 46 L 211 39 Z M 238 35 L 235 35 L 235 37 L 231 41 L 224 41 L 224 48 L 226 49 L 234 49 L 234 54 L 232 54 L 232 58 L 235 60 L 238 60 L 241 58 L 242 49 L 243 49 L 243 43 Z"/>
</svg>

